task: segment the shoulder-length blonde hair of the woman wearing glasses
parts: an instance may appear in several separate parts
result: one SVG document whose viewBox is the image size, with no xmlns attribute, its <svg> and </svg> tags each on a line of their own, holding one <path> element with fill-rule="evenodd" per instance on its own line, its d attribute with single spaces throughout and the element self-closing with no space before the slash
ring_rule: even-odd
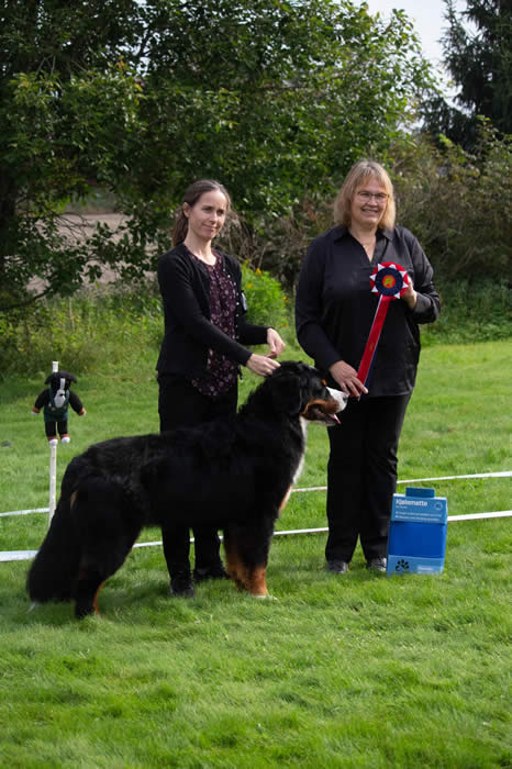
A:
<svg viewBox="0 0 512 769">
<path fill-rule="evenodd" d="M 381 185 L 388 194 L 388 204 L 379 222 L 381 230 L 392 230 L 397 216 L 393 186 L 387 171 L 375 160 L 358 160 L 348 171 L 340 192 L 334 201 L 334 221 L 345 227 L 352 223 L 352 202 L 358 188 L 368 180 L 375 180 Z"/>
</svg>

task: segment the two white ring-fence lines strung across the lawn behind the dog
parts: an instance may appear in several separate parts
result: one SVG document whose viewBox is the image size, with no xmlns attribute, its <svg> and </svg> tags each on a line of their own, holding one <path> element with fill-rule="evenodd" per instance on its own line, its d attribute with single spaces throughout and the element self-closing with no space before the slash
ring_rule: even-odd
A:
<svg viewBox="0 0 512 769">
<path fill-rule="evenodd" d="M 412 478 L 409 480 L 399 480 L 398 483 L 420 483 L 425 481 L 439 481 L 439 480 L 458 480 L 464 478 L 510 478 L 512 476 L 512 470 L 503 470 L 501 472 L 476 472 L 466 476 L 443 476 L 438 478 Z M 293 492 L 305 492 L 305 491 L 325 491 L 327 487 L 325 486 L 311 486 L 305 489 L 292 489 Z M 4 515 L 27 515 L 29 513 L 47 513 L 48 508 L 34 508 L 33 510 L 18 510 L 11 513 L 0 513 L 0 516 Z M 476 521 L 485 519 L 498 519 L 498 517 L 510 517 L 512 516 L 512 510 L 499 510 L 488 513 L 470 513 L 468 515 L 448 515 L 448 522 L 456 521 Z M 274 532 L 274 536 L 289 536 L 297 534 L 321 534 L 327 532 L 327 527 L 320 528 L 293 528 L 282 532 Z M 222 536 L 221 536 L 222 539 Z M 193 543 L 193 537 L 190 539 Z M 158 542 L 140 542 L 134 545 L 135 547 L 157 547 L 162 546 L 162 540 Z M 30 560 L 34 558 L 37 550 L 3 550 L 0 551 L 0 562 L 7 562 L 12 560 Z"/>
</svg>

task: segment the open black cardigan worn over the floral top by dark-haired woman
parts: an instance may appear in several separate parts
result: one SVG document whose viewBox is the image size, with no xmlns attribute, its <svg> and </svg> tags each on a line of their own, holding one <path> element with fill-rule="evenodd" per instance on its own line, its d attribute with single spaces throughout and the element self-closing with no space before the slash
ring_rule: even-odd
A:
<svg viewBox="0 0 512 769">
<path fill-rule="evenodd" d="M 224 334 L 210 320 L 210 277 L 207 267 L 192 258 L 182 243 L 160 256 L 158 285 L 164 302 L 165 335 L 156 366 L 159 375 L 203 376 L 209 349 L 244 366 L 252 355 L 244 345 L 266 343 L 268 326 L 245 321 L 240 264 L 229 254 L 222 256 L 224 272 L 236 287 L 236 339 Z"/>
</svg>

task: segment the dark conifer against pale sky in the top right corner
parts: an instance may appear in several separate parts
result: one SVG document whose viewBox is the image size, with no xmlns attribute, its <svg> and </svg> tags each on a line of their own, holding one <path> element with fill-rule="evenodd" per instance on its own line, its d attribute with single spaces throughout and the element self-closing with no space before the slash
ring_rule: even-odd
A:
<svg viewBox="0 0 512 769">
<path fill-rule="evenodd" d="M 458 13 L 454 0 L 445 3 L 444 62 L 459 89 L 461 109 L 435 97 L 427 101 L 424 118 L 431 133 L 471 148 L 478 141 L 478 115 L 489 118 L 503 134 L 512 133 L 512 4 L 467 0 Z"/>
</svg>

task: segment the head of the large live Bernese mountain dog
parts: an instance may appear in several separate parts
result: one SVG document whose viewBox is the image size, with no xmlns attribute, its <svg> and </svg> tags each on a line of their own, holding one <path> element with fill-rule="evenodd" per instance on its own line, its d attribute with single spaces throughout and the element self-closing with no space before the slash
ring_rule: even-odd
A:
<svg viewBox="0 0 512 769">
<path fill-rule="evenodd" d="M 267 381 L 277 411 L 327 427 L 340 423 L 336 414 L 345 409 L 347 395 L 329 388 L 312 366 L 283 361 Z"/>
</svg>

